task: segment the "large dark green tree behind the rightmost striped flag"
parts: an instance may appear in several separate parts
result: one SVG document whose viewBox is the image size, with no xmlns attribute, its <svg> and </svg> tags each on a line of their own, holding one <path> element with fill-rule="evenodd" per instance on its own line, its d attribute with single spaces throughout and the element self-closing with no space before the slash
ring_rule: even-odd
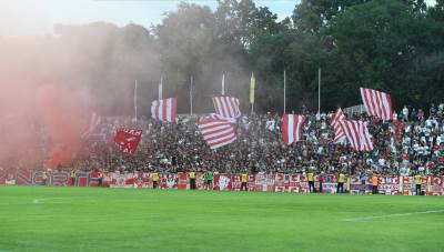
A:
<svg viewBox="0 0 444 252">
<path fill-rule="evenodd" d="M 415 97 L 423 97 L 427 81 L 418 74 L 417 62 L 425 62 L 421 59 L 442 43 L 434 38 L 440 29 L 414 8 L 396 0 L 374 0 L 334 20 L 331 33 L 335 49 L 329 58 L 330 83 L 325 84 L 327 103 L 357 103 L 360 87 L 389 91 L 397 107 L 418 102 Z"/>
</svg>

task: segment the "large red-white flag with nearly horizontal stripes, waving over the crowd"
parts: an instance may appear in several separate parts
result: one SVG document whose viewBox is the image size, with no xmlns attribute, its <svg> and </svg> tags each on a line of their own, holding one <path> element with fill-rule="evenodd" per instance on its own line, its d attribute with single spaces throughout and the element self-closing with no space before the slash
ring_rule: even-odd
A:
<svg viewBox="0 0 444 252">
<path fill-rule="evenodd" d="M 219 118 L 206 118 L 196 123 L 203 139 L 212 150 L 236 140 L 231 122 Z"/>
</svg>

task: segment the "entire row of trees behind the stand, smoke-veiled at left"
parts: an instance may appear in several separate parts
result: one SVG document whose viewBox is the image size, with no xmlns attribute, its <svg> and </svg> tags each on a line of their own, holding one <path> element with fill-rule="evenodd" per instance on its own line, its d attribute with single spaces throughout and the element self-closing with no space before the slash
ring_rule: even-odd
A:
<svg viewBox="0 0 444 252">
<path fill-rule="evenodd" d="M 215 10 L 182 2 L 151 28 L 57 24 L 54 34 L 37 43 L 39 78 L 84 85 L 109 115 L 131 114 L 134 80 L 148 114 L 161 77 L 178 112 L 190 111 L 191 77 L 194 111 L 210 111 L 222 74 L 246 112 L 251 72 L 255 111 L 282 112 L 283 71 L 287 111 L 315 111 L 319 68 L 322 110 L 359 104 L 360 87 L 391 93 L 395 108 L 444 97 L 444 0 L 302 0 L 281 20 L 253 0 L 218 0 Z"/>
</svg>

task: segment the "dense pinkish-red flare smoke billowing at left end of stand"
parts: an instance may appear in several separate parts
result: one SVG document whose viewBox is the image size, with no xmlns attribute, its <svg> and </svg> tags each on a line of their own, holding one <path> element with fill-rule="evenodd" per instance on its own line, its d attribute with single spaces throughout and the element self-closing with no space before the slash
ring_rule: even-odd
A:
<svg viewBox="0 0 444 252">
<path fill-rule="evenodd" d="M 79 150 L 91 112 L 74 54 L 59 39 L 0 38 L 0 167 L 67 164 Z"/>
</svg>

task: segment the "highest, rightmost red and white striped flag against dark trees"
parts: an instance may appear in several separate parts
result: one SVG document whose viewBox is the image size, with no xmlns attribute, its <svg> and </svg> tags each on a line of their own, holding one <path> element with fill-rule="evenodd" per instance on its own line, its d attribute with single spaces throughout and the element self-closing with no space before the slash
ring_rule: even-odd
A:
<svg viewBox="0 0 444 252">
<path fill-rule="evenodd" d="M 392 99 L 389 93 L 361 88 L 361 97 L 369 114 L 383 121 L 393 120 Z"/>
</svg>

